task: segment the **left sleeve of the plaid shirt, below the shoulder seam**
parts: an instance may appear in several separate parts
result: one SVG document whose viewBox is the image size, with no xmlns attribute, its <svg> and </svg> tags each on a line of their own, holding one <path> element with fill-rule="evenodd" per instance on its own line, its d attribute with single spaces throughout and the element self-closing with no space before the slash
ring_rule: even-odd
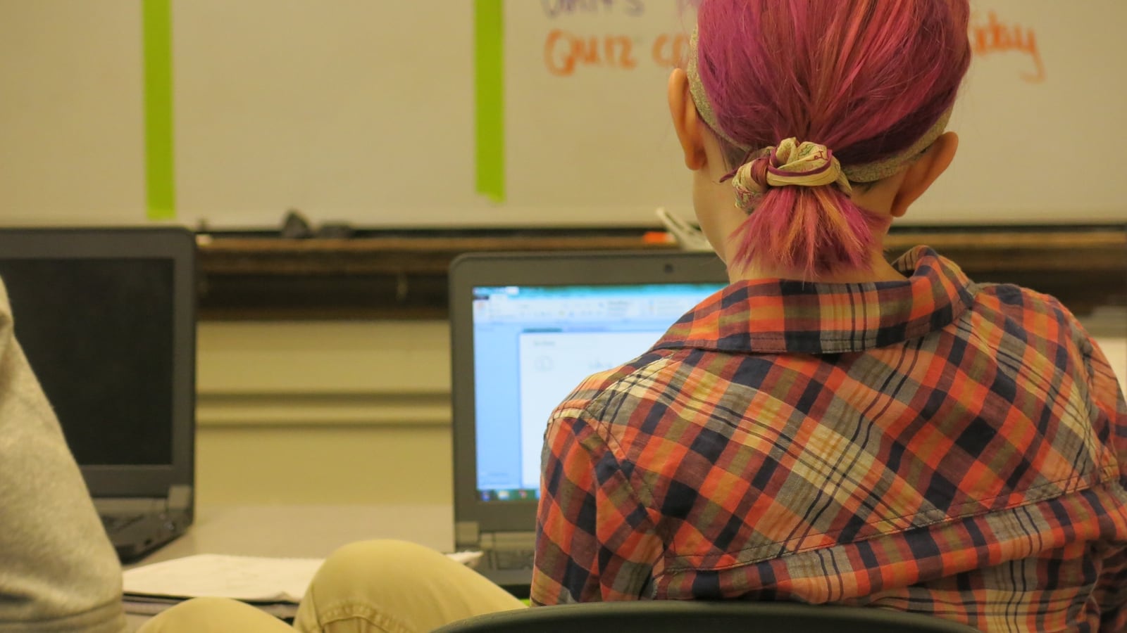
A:
<svg viewBox="0 0 1127 633">
<path fill-rule="evenodd" d="M 592 425 L 549 425 L 540 494 L 533 604 L 647 597 L 663 553 L 657 519 Z"/>
</svg>

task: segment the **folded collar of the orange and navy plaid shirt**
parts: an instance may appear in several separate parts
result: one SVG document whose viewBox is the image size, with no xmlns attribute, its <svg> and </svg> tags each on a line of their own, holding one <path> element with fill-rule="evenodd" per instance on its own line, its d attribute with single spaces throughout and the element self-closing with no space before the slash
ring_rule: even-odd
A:
<svg viewBox="0 0 1127 633">
<path fill-rule="evenodd" d="M 655 348 L 842 354 L 896 345 L 952 323 L 974 300 L 953 262 L 916 247 L 893 266 L 903 282 L 736 282 L 681 318 Z"/>
</svg>

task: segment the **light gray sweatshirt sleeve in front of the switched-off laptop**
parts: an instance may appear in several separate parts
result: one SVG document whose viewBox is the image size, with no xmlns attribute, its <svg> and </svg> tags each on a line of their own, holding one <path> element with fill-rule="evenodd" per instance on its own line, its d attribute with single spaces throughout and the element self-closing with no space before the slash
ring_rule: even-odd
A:
<svg viewBox="0 0 1127 633">
<path fill-rule="evenodd" d="M 121 564 L 0 283 L 0 632 L 124 630 Z"/>
</svg>

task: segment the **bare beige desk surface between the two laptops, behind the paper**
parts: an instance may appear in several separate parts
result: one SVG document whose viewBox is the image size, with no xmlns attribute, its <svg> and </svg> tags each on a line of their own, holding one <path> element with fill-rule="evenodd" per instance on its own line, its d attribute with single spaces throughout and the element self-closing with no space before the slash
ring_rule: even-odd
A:
<svg viewBox="0 0 1127 633">
<path fill-rule="evenodd" d="M 201 508 L 188 532 L 137 564 L 193 554 L 325 558 L 355 541 L 401 538 L 450 552 L 454 510 L 445 505 L 228 506 Z M 128 615 L 131 630 L 145 616 Z"/>
</svg>

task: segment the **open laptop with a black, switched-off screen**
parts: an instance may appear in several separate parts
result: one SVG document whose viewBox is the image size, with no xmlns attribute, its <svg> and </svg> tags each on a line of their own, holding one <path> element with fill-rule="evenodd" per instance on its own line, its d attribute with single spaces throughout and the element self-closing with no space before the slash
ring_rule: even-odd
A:
<svg viewBox="0 0 1127 633">
<path fill-rule="evenodd" d="M 181 534 L 194 501 L 192 233 L 0 230 L 0 278 L 118 555 Z"/>
</svg>

